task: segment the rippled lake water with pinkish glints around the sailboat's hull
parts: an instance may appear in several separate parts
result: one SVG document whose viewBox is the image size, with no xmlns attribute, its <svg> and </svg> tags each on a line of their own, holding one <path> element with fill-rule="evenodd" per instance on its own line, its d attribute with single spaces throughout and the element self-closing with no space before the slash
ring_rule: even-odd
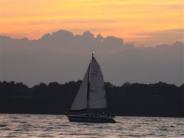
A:
<svg viewBox="0 0 184 138">
<path fill-rule="evenodd" d="M 183 137 L 184 118 L 115 117 L 117 123 L 71 123 L 64 115 L 0 114 L 0 138 Z"/>
</svg>

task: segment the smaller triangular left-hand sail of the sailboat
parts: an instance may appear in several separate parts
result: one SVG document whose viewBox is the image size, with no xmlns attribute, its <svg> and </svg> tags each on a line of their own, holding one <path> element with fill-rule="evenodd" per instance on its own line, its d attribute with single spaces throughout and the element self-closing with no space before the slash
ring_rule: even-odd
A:
<svg viewBox="0 0 184 138">
<path fill-rule="evenodd" d="M 79 91 L 73 101 L 71 110 L 82 110 L 87 108 L 87 89 L 88 89 L 88 73 L 89 68 L 84 76 Z"/>
</svg>

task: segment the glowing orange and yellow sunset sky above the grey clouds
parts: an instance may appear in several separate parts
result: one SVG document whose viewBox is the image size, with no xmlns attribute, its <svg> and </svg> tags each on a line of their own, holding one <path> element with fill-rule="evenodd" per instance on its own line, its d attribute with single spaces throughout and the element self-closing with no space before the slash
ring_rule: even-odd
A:
<svg viewBox="0 0 184 138">
<path fill-rule="evenodd" d="M 184 29 L 183 0 L 0 0 L 0 34 L 35 39 L 59 29 L 136 41 Z"/>
</svg>

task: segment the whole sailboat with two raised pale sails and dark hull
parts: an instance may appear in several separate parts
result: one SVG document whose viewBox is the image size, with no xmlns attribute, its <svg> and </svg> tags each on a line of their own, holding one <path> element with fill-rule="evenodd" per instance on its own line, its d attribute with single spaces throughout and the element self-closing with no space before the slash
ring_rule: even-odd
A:
<svg viewBox="0 0 184 138">
<path fill-rule="evenodd" d="M 103 74 L 94 52 L 68 119 L 71 122 L 115 123 L 113 116 L 107 112 Z"/>
</svg>

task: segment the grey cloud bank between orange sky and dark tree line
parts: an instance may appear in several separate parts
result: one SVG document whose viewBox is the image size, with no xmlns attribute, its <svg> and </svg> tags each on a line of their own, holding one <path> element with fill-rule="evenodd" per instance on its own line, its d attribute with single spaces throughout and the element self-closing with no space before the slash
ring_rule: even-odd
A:
<svg viewBox="0 0 184 138">
<path fill-rule="evenodd" d="M 137 48 L 114 36 L 74 35 L 65 30 L 38 40 L 0 36 L 0 80 L 34 85 L 82 79 L 92 50 L 105 81 L 117 85 L 184 82 L 184 43 Z"/>
</svg>

